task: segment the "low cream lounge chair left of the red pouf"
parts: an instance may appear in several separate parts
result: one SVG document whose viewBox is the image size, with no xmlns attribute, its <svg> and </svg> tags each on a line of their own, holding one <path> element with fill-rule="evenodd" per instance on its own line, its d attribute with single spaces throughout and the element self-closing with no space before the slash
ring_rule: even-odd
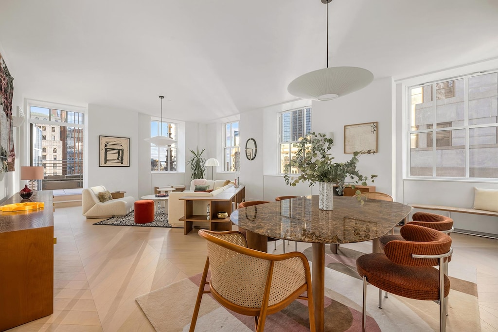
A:
<svg viewBox="0 0 498 332">
<path fill-rule="evenodd" d="M 81 192 L 81 205 L 83 216 L 87 218 L 110 218 L 124 216 L 133 211 L 135 199 L 131 196 L 99 201 L 99 193 L 107 191 L 104 186 L 95 186 L 83 189 Z"/>
</svg>

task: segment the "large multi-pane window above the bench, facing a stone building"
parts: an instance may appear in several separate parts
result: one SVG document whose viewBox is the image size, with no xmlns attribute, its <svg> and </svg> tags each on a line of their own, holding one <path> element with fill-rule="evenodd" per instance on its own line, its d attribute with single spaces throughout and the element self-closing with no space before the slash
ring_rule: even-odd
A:
<svg viewBox="0 0 498 332">
<path fill-rule="evenodd" d="M 497 86 L 488 72 L 408 88 L 409 177 L 498 178 Z"/>
</svg>

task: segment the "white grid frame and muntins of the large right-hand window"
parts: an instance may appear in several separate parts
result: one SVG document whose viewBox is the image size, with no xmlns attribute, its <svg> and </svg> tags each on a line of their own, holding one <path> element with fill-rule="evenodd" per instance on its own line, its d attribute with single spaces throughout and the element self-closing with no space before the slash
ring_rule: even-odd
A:
<svg viewBox="0 0 498 332">
<path fill-rule="evenodd" d="M 404 149 L 405 149 L 405 163 L 404 163 L 404 179 L 409 180 L 451 180 L 451 181 L 471 181 L 471 182 L 496 182 L 498 178 L 479 178 L 479 177 L 470 177 L 470 130 L 474 128 L 490 128 L 495 127 L 498 132 L 498 123 L 485 123 L 485 124 L 469 124 L 469 78 L 497 73 L 498 70 L 482 70 L 479 72 L 474 72 L 473 74 L 461 74 L 458 76 L 445 78 L 445 79 L 437 79 L 427 82 L 424 80 L 422 84 L 409 84 L 405 85 L 404 89 L 404 106 L 405 111 L 403 114 L 403 119 L 405 123 L 405 131 L 403 132 Z M 465 80 L 465 93 L 464 93 L 464 124 L 459 126 L 453 126 L 450 128 L 442 127 L 436 128 L 436 107 L 437 107 L 437 97 L 436 97 L 436 84 L 443 83 L 447 81 L 457 81 L 460 79 Z M 421 130 L 412 130 L 412 120 L 411 120 L 411 98 L 410 98 L 410 90 L 416 87 L 427 87 L 432 85 L 432 96 L 433 96 L 433 121 L 432 127 L 430 129 L 421 129 Z M 437 167 L 437 147 L 436 147 L 436 133 L 438 131 L 447 131 L 447 130 L 465 130 L 465 176 L 464 177 L 449 177 L 449 176 L 437 176 L 436 175 L 436 167 Z M 432 132 L 432 176 L 415 176 L 411 175 L 411 134 L 414 133 L 428 133 Z M 429 135 L 428 135 L 429 136 Z"/>
</svg>

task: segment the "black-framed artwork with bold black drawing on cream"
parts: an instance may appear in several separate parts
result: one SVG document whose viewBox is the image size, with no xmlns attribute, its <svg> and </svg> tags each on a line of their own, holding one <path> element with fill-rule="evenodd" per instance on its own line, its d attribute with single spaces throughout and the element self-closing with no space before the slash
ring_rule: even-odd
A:
<svg viewBox="0 0 498 332">
<path fill-rule="evenodd" d="M 99 166 L 129 167 L 129 137 L 99 135 Z"/>
</svg>

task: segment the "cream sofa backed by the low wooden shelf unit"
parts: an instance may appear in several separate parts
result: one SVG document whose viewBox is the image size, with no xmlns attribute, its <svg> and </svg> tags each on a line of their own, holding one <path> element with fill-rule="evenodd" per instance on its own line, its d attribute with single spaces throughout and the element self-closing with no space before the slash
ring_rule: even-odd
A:
<svg viewBox="0 0 498 332">
<path fill-rule="evenodd" d="M 206 193 L 206 192 L 195 192 L 194 191 L 194 189 L 195 189 L 194 181 L 192 181 L 190 184 L 190 189 L 192 189 L 192 190 L 186 190 L 183 192 L 175 192 L 174 191 L 174 192 L 169 193 L 169 199 L 168 199 L 168 222 L 169 222 L 169 224 L 172 227 L 183 228 L 183 226 L 184 226 L 184 222 L 179 220 L 185 214 L 185 201 L 180 200 L 181 197 L 185 197 L 185 196 L 212 197 L 212 196 L 216 196 L 220 193 L 223 193 L 228 188 L 231 188 L 234 186 L 232 183 L 230 183 L 226 186 L 223 186 L 224 183 L 225 183 L 225 180 L 217 180 L 217 181 L 206 180 L 205 185 L 209 185 L 209 189 L 218 188 L 216 190 L 213 190 L 210 193 Z M 193 202 L 194 215 L 207 215 L 207 206 L 208 206 L 208 202 L 194 201 Z M 209 227 L 209 221 L 206 221 L 206 226 Z"/>
</svg>

